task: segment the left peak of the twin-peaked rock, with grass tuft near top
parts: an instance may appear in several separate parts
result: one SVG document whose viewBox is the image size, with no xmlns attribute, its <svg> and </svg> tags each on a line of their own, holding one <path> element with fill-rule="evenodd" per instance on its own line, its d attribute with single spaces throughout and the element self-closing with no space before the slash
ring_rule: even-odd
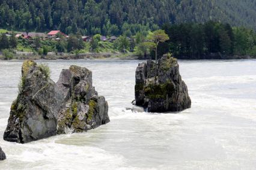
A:
<svg viewBox="0 0 256 170">
<path fill-rule="evenodd" d="M 25 61 L 19 95 L 11 105 L 4 139 L 10 142 L 29 142 L 56 134 L 56 116 L 62 102 L 43 65 Z"/>
</svg>

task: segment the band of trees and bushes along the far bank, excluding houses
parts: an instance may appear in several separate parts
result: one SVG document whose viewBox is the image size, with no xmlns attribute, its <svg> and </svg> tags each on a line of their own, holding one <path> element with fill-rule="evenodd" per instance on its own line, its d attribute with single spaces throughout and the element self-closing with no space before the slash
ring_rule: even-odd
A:
<svg viewBox="0 0 256 170">
<path fill-rule="evenodd" d="M 165 24 L 162 30 L 137 32 L 131 38 L 123 34 L 112 42 L 102 41 L 100 34 L 94 35 L 90 42 L 84 42 L 81 34 L 71 34 L 69 38 L 58 34 L 58 41 L 40 40 L 40 37 L 25 40 L 16 38 L 14 34 L 8 36 L 0 35 L 0 50 L 13 49 L 18 45 L 17 51 L 29 48 L 35 53 L 44 55 L 47 51 L 56 53 L 120 51 L 133 53 L 142 59 L 155 58 L 156 54 L 160 57 L 166 53 L 172 53 L 178 59 L 212 59 L 222 55 L 256 56 L 256 34 L 252 29 L 232 28 L 227 23 L 212 21 L 204 24 Z"/>
</svg>

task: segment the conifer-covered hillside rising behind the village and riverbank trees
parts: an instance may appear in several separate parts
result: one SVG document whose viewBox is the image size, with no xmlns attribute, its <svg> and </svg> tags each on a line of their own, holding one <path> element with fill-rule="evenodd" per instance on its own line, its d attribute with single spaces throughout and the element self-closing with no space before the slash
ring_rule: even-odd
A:
<svg viewBox="0 0 256 170">
<path fill-rule="evenodd" d="M 255 29 L 255 9 L 256 0 L 0 0 L 0 28 L 129 36 L 215 20 Z"/>
</svg>

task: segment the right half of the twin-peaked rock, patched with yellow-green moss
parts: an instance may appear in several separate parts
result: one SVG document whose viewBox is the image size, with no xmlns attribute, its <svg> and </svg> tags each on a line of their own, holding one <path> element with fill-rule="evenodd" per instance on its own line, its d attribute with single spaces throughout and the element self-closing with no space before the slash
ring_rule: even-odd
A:
<svg viewBox="0 0 256 170">
<path fill-rule="evenodd" d="M 83 132 L 109 122 L 108 102 L 98 96 L 87 68 L 70 66 L 61 72 L 57 86 L 67 96 L 58 114 L 58 133 Z"/>
</svg>

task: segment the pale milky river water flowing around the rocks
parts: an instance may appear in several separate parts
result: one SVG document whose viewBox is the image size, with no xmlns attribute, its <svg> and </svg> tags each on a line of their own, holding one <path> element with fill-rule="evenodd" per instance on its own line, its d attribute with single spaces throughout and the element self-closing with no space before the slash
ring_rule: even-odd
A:
<svg viewBox="0 0 256 170">
<path fill-rule="evenodd" d="M 0 169 L 254 169 L 256 60 L 180 61 L 192 108 L 178 114 L 126 111 L 134 98 L 139 61 L 46 62 L 58 80 L 62 68 L 85 66 L 109 102 L 108 125 L 28 144 L 2 139 L 17 96 L 22 62 L 0 62 Z"/>
</svg>

